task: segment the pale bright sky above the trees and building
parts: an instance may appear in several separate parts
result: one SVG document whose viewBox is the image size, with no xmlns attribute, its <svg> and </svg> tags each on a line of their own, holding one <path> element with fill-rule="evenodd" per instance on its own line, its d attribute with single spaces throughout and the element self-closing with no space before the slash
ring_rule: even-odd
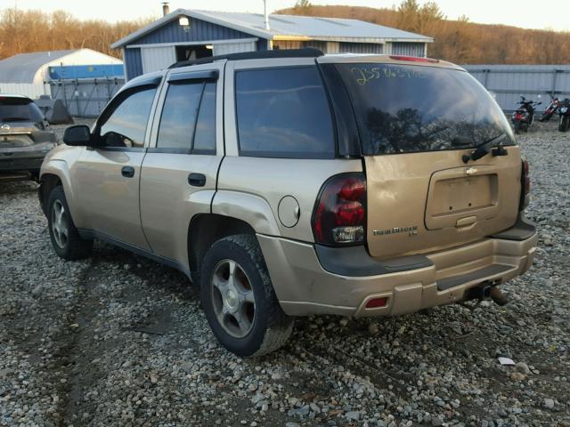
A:
<svg viewBox="0 0 570 427">
<path fill-rule="evenodd" d="M 312 0 L 311 3 L 392 7 L 399 4 L 400 0 Z M 425 0 L 419 0 L 419 3 L 425 3 Z M 436 3 L 451 20 L 467 15 L 472 22 L 570 31 L 568 0 L 547 0 L 542 3 L 535 0 L 437 0 Z M 293 4 L 295 0 L 267 0 L 269 11 Z M 547 7 L 542 7 L 541 4 L 547 4 Z M 39 9 L 45 12 L 61 9 L 84 20 L 96 18 L 116 21 L 158 18 L 162 15 L 159 0 L 0 0 L 0 9 L 14 5 L 20 9 Z M 172 0 L 170 10 L 177 8 L 259 13 L 264 10 L 262 0 Z"/>
</svg>

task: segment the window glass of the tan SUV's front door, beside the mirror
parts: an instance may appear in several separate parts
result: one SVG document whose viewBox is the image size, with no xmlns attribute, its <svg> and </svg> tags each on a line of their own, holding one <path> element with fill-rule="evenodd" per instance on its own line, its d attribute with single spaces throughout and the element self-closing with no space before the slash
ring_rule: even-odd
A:
<svg viewBox="0 0 570 427">
<path fill-rule="evenodd" d="M 100 125 L 102 147 L 142 148 L 156 87 L 131 93 Z"/>
</svg>

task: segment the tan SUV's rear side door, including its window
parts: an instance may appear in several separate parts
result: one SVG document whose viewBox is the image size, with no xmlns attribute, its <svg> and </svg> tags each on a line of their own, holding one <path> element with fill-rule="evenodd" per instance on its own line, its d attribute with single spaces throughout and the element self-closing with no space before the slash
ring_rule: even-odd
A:
<svg viewBox="0 0 570 427">
<path fill-rule="evenodd" d="M 224 157 L 223 75 L 223 62 L 171 72 L 142 163 L 142 228 L 156 254 L 183 266 L 189 224 L 209 214 Z"/>
</svg>

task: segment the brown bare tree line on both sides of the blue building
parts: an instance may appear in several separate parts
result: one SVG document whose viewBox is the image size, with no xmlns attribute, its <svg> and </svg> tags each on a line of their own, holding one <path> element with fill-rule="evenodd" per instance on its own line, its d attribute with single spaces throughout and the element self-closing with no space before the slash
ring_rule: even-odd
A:
<svg viewBox="0 0 570 427">
<path fill-rule="evenodd" d="M 285 14 L 351 18 L 435 38 L 428 55 L 460 64 L 568 64 L 570 33 L 448 20 L 435 2 L 404 0 L 391 9 L 316 6 L 298 0 Z M 117 58 L 110 44 L 155 20 L 78 20 L 64 11 L 4 9 L 0 12 L 0 59 L 17 53 L 90 48 Z"/>
</svg>

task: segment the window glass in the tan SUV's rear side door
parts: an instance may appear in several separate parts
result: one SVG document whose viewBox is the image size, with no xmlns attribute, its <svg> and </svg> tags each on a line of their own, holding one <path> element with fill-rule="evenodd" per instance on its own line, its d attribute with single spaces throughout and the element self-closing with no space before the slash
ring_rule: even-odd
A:
<svg viewBox="0 0 570 427">
<path fill-rule="evenodd" d="M 170 84 L 160 117 L 159 149 L 216 151 L 216 83 Z"/>
</svg>

